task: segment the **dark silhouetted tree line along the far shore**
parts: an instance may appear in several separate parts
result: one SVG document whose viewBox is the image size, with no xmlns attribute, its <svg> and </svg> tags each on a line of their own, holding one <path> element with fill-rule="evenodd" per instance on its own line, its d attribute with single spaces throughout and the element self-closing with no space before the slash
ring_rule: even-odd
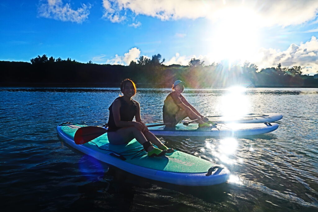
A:
<svg viewBox="0 0 318 212">
<path fill-rule="evenodd" d="M 230 66 L 227 61 L 204 65 L 192 58 L 188 65 L 163 65 L 160 54 L 141 56 L 129 65 L 79 63 L 71 58 L 48 58 L 45 54 L 27 62 L 0 61 L 2 86 L 112 87 L 125 79 L 139 87 L 170 87 L 176 79 L 188 87 L 318 87 L 318 79 L 302 75 L 301 66 L 263 68 L 245 62 Z"/>
</svg>

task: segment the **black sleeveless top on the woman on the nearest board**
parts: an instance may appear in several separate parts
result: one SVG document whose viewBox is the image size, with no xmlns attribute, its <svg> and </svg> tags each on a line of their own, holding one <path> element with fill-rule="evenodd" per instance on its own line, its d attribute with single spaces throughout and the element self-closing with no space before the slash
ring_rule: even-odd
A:
<svg viewBox="0 0 318 212">
<path fill-rule="evenodd" d="M 131 100 L 132 105 L 129 105 L 122 97 L 118 97 L 115 100 L 119 99 L 121 102 L 120 107 L 120 120 L 121 121 L 132 121 L 135 117 L 136 111 L 137 111 L 137 105 L 135 100 Z M 115 101 L 114 100 L 114 101 Z M 113 104 L 114 102 L 109 106 L 109 119 L 108 119 L 108 132 L 114 132 L 121 127 L 117 127 L 115 125 L 114 121 L 114 115 L 113 115 Z"/>
</svg>

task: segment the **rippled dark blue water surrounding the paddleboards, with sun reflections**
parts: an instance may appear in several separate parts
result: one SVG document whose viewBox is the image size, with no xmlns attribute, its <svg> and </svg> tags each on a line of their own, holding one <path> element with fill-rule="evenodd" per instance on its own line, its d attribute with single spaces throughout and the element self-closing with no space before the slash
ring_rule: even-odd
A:
<svg viewBox="0 0 318 212">
<path fill-rule="evenodd" d="M 169 89 L 139 89 L 147 123 Z M 71 149 L 56 125 L 101 126 L 117 88 L 0 88 L 0 201 L 5 211 L 318 211 L 318 89 L 185 89 L 202 114 L 282 113 L 278 130 L 215 139 L 162 137 L 231 171 L 229 182 L 182 187 L 108 167 Z"/>
</svg>

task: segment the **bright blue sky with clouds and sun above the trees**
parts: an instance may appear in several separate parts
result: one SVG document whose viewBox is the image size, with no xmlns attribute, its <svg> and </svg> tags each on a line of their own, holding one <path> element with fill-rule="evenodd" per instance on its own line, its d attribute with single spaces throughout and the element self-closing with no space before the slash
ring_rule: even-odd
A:
<svg viewBox="0 0 318 212">
<path fill-rule="evenodd" d="M 0 60 L 127 65 L 223 59 L 318 71 L 318 1 L 40 0 L 0 3 Z"/>
</svg>

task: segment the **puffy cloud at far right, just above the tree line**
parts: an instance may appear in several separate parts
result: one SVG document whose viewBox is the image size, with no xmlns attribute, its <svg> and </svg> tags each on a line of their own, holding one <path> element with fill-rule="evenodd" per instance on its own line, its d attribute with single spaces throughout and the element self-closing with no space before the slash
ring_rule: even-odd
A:
<svg viewBox="0 0 318 212">
<path fill-rule="evenodd" d="M 318 40 L 312 36 L 306 43 L 291 44 L 285 51 L 262 48 L 254 63 L 259 68 L 276 67 L 279 63 L 284 67 L 300 65 L 303 73 L 315 73 L 318 71 Z"/>
</svg>

